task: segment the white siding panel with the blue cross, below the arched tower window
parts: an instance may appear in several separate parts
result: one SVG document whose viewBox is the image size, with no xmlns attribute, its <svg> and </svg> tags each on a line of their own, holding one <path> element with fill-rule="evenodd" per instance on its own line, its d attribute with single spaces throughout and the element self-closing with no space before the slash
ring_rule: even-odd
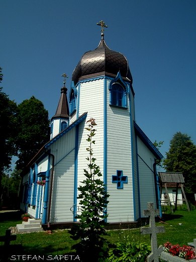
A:
<svg viewBox="0 0 196 262">
<path fill-rule="evenodd" d="M 107 80 L 107 190 L 110 194 L 108 222 L 134 221 L 131 129 L 129 108 L 110 105 L 110 80 Z M 123 170 L 128 183 L 117 189 L 112 175 Z"/>
</svg>

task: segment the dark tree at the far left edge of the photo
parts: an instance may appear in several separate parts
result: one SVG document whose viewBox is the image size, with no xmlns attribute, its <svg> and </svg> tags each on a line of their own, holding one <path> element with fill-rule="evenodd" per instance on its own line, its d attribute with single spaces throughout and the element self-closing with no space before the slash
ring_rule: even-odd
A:
<svg viewBox="0 0 196 262">
<path fill-rule="evenodd" d="M 0 68 L 0 82 L 2 82 L 3 74 Z M 9 96 L 0 88 L 0 191 L 1 178 L 5 171 L 11 166 L 12 156 L 17 154 L 15 147 L 15 138 L 17 135 L 16 112 L 17 104 L 9 99 Z M 1 192 L 0 192 L 1 194 Z"/>
</svg>

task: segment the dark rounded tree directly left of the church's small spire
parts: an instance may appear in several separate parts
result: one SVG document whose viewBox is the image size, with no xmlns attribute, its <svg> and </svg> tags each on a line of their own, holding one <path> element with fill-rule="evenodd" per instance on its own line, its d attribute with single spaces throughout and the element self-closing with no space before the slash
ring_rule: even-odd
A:
<svg viewBox="0 0 196 262">
<path fill-rule="evenodd" d="M 23 169 L 41 147 L 49 141 L 48 111 L 43 103 L 32 96 L 18 105 L 19 160 L 17 169 Z"/>
</svg>

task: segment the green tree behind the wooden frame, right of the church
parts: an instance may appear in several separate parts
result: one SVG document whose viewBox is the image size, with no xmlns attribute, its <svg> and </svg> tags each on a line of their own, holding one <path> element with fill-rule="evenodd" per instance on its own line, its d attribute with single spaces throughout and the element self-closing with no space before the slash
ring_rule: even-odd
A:
<svg viewBox="0 0 196 262">
<path fill-rule="evenodd" d="M 177 132 L 173 135 L 163 166 L 167 172 L 181 172 L 185 180 L 185 192 L 195 193 L 196 146 L 187 134 Z"/>
</svg>

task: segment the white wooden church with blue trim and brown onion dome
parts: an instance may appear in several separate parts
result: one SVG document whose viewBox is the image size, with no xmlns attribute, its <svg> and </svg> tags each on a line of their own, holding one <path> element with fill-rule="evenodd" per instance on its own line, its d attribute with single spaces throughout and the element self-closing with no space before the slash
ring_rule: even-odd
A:
<svg viewBox="0 0 196 262">
<path fill-rule="evenodd" d="M 128 60 L 106 45 L 103 28 L 98 47 L 76 65 L 69 95 L 65 84 L 61 88 L 50 141 L 22 173 L 21 209 L 43 224 L 77 221 L 77 188 L 88 157 L 85 127 L 91 117 L 97 124 L 93 156 L 110 194 L 107 222 L 137 221 L 147 202 L 159 208 L 156 159 L 163 156 L 135 121 Z"/>
</svg>

